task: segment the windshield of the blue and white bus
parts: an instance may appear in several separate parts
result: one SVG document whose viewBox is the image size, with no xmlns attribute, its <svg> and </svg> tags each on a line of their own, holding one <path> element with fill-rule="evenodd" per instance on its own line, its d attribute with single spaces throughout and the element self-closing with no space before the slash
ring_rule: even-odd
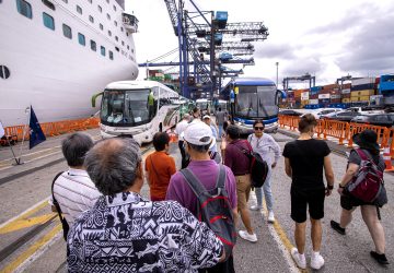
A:
<svg viewBox="0 0 394 273">
<path fill-rule="evenodd" d="M 275 86 L 239 86 L 235 115 L 243 118 L 268 118 L 278 115 Z"/>
</svg>

